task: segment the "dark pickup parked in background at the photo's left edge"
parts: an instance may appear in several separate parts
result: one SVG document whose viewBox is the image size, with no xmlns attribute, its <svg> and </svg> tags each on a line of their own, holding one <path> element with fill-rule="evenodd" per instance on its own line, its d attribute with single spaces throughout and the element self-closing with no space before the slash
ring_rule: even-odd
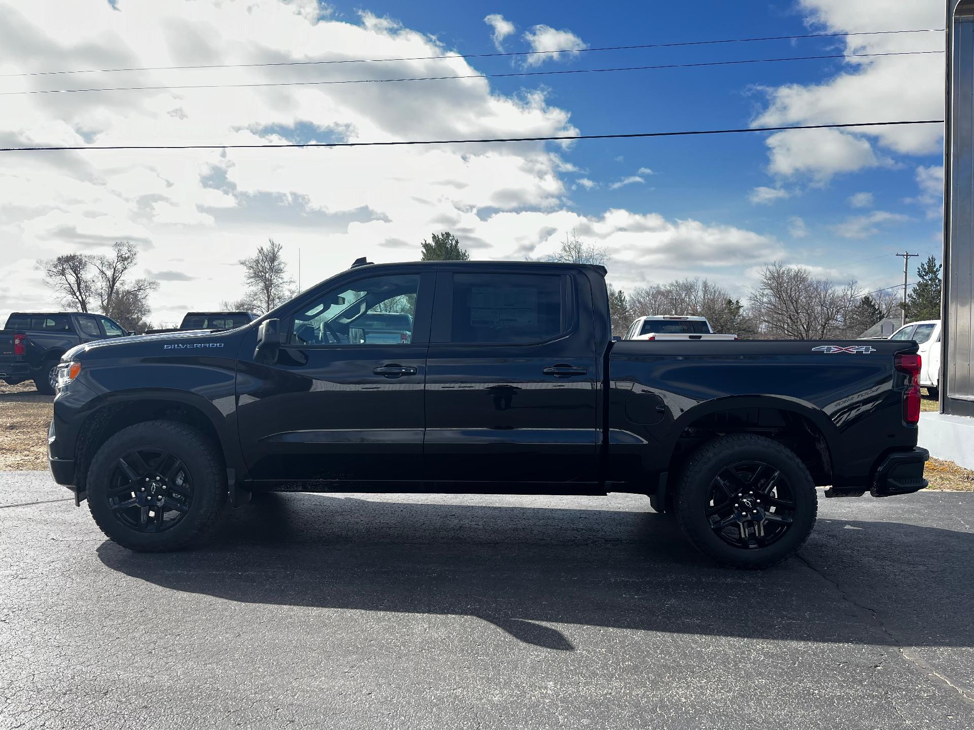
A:
<svg viewBox="0 0 974 730">
<path fill-rule="evenodd" d="M 131 334 L 103 314 L 77 311 L 15 311 L 0 330 L 0 380 L 33 381 L 38 392 L 55 392 L 57 362 L 71 347 Z"/>
</svg>

